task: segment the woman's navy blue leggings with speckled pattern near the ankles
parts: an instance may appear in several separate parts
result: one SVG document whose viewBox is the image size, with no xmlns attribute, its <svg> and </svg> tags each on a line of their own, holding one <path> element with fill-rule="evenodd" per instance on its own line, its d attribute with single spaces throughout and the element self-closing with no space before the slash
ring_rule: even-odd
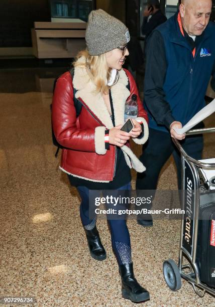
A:
<svg viewBox="0 0 215 307">
<path fill-rule="evenodd" d="M 92 229 L 95 226 L 96 217 L 94 219 L 89 219 L 89 189 L 83 186 L 79 186 L 77 187 L 77 190 L 81 197 L 81 204 L 80 204 L 81 222 L 84 228 Z M 123 187 L 120 187 L 118 190 L 115 190 L 116 194 L 118 194 L 119 190 L 131 190 L 131 183 Z M 122 196 L 122 194 L 120 195 Z M 119 208 L 117 207 L 118 205 L 115 207 L 115 209 L 119 210 Z M 117 215 L 115 215 L 115 218 L 116 216 Z M 126 224 L 126 215 L 124 216 L 121 215 L 120 218 L 121 219 L 110 219 L 110 218 L 107 219 L 111 230 L 112 247 L 117 257 L 119 265 L 128 264 L 132 262 L 131 241 L 130 241 L 129 230 Z"/>
</svg>

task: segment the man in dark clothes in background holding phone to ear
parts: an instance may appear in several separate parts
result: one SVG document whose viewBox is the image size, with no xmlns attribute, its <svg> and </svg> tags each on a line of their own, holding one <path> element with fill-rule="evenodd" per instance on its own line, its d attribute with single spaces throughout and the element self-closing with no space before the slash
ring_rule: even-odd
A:
<svg viewBox="0 0 215 307">
<path fill-rule="evenodd" d="M 149 19 L 149 16 L 151 18 Z M 149 20 L 148 20 L 149 19 Z M 166 16 L 160 10 L 158 0 L 148 0 L 146 9 L 143 12 L 143 24 L 141 27 L 142 34 L 146 36 L 146 40 L 151 32 L 166 21 Z"/>
</svg>

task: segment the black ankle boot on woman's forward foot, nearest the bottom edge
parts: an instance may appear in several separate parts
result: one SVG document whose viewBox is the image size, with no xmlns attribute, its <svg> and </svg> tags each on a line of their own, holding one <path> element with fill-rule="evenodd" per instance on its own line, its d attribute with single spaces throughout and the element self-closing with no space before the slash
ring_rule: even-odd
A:
<svg viewBox="0 0 215 307">
<path fill-rule="evenodd" d="M 140 302 L 149 299 L 149 292 L 144 289 L 134 277 L 133 263 L 119 266 L 122 279 L 122 295 L 133 302 Z"/>
</svg>

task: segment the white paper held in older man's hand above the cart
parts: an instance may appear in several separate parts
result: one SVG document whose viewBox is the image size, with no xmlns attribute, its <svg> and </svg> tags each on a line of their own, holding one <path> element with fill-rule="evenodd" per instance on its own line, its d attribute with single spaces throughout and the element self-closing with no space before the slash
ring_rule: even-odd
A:
<svg viewBox="0 0 215 307">
<path fill-rule="evenodd" d="M 196 113 L 182 128 L 175 128 L 174 130 L 178 134 L 183 134 L 195 125 L 197 125 L 197 123 L 208 117 L 213 112 L 215 112 L 215 99 L 213 99 L 208 105 L 206 105 L 203 109 Z"/>
</svg>

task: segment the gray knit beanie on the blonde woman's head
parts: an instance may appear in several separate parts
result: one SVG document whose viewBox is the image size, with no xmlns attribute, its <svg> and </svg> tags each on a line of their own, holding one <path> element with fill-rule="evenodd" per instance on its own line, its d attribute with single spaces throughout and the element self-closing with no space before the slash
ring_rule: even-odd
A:
<svg viewBox="0 0 215 307">
<path fill-rule="evenodd" d="M 126 45 L 130 35 L 120 20 L 103 10 L 96 10 L 88 16 L 85 40 L 89 54 L 95 56 Z"/>
</svg>

